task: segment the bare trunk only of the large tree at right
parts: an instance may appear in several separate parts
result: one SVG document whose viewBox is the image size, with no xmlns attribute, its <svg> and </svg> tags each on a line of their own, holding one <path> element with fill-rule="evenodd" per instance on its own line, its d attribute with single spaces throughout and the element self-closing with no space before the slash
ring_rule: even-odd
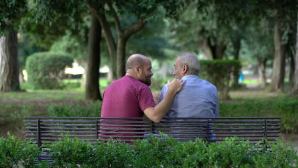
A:
<svg viewBox="0 0 298 168">
<path fill-rule="evenodd" d="M 282 43 L 283 32 L 280 29 L 278 21 L 274 24 L 274 62 L 273 74 L 269 90 L 283 91 L 285 77 L 285 49 L 286 45 Z"/>
</svg>

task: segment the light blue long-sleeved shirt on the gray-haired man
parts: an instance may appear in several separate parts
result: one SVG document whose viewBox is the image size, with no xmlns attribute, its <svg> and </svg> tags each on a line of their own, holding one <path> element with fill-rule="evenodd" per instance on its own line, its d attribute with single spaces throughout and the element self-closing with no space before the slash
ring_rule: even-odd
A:
<svg viewBox="0 0 298 168">
<path fill-rule="evenodd" d="M 186 75 L 186 83 L 176 94 L 173 105 L 165 117 L 219 117 L 217 88 L 197 75 Z M 168 91 L 168 84 L 162 90 L 158 102 Z"/>
</svg>

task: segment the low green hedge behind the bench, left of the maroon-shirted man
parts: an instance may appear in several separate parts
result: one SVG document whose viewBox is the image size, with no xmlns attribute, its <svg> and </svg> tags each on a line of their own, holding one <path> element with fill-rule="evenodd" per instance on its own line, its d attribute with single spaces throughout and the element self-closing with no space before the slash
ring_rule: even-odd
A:
<svg viewBox="0 0 298 168">
<path fill-rule="evenodd" d="M 99 117 L 101 112 L 101 102 L 97 101 L 90 103 L 87 106 L 82 105 L 50 105 L 48 107 L 48 113 L 50 116 L 59 117 Z"/>
</svg>

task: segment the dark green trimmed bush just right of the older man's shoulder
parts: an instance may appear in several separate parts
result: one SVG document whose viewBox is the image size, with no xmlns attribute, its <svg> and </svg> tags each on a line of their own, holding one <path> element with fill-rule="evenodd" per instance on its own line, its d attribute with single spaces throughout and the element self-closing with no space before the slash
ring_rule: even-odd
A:
<svg viewBox="0 0 298 168">
<path fill-rule="evenodd" d="M 229 99 L 231 76 L 238 79 L 241 63 L 239 60 L 201 60 L 200 78 L 214 84 L 219 91 L 219 99 Z"/>
</svg>

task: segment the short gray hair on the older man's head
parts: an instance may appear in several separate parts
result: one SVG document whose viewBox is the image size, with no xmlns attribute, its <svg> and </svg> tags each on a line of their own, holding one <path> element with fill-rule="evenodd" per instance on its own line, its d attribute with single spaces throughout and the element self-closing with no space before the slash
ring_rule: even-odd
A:
<svg viewBox="0 0 298 168">
<path fill-rule="evenodd" d="M 180 58 L 179 64 L 181 67 L 186 65 L 188 67 L 189 73 L 199 75 L 200 65 L 197 56 L 190 53 L 185 53 L 177 56 L 176 59 L 178 58 Z"/>
</svg>

